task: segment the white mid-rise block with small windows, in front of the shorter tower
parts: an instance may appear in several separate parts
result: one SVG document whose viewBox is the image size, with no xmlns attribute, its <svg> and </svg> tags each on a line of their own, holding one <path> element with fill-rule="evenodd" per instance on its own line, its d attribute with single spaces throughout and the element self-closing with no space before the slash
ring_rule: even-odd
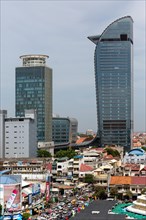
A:
<svg viewBox="0 0 146 220">
<path fill-rule="evenodd" d="M 5 119 L 5 158 L 36 157 L 37 125 L 35 115 L 34 110 L 26 110 L 24 118 Z"/>
</svg>

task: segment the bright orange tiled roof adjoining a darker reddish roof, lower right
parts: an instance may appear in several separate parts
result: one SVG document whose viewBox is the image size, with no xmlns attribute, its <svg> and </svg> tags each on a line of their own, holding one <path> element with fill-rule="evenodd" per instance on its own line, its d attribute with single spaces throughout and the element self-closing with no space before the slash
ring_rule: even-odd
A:
<svg viewBox="0 0 146 220">
<path fill-rule="evenodd" d="M 131 185 L 131 177 L 130 176 L 111 176 L 110 180 L 111 185 Z"/>
</svg>

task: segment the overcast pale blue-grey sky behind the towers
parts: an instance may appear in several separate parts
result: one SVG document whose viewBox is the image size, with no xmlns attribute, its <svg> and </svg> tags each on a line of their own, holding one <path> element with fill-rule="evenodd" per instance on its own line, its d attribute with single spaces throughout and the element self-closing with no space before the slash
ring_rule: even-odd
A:
<svg viewBox="0 0 146 220">
<path fill-rule="evenodd" d="M 146 130 L 145 0 L 1 0 L 0 108 L 15 115 L 15 67 L 24 54 L 49 55 L 53 69 L 53 113 L 78 120 L 78 130 L 97 131 L 95 45 L 87 39 L 113 21 L 134 20 L 134 130 Z"/>
</svg>

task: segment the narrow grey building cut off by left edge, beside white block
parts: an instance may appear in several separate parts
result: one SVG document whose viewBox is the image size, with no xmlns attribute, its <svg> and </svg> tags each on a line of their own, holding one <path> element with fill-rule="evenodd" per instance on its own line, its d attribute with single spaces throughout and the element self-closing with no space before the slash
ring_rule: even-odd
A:
<svg viewBox="0 0 146 220">
<path fill-rule="evenodd" d="M 5 146 L 5 118 L 7 117 L 6 110 L 0 110 L 0 158 L 4 157 Z"/>
</svg>

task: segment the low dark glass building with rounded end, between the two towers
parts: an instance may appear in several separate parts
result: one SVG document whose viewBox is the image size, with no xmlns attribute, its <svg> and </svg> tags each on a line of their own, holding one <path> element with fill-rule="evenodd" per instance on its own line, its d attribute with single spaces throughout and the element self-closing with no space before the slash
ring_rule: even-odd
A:
<svg viewBox="0 0 146 220">
<path fill-rule="evenodd" d="M 77 131 L 78 122 L 75 118 L 53 117 L 52 140 L 55 144 L 75 143 Z"/>
</svg>

